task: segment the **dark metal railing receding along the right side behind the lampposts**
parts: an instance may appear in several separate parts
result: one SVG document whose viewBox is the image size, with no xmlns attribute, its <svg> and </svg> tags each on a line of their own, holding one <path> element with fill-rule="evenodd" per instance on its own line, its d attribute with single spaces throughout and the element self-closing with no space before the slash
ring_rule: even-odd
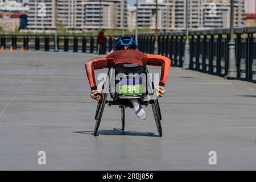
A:
<svg viewBox="0 0 256 182">
<path fill-rule="evenodd" d="M 228 73 L 229 29 L 190 31 L 189 69 L 225 76 Z M 235 28 L 237 78 L 256 82 L 256 27 Z M 139 35 L 139 49 L 154 53 L 154 35 Z M 159 34 L 160 55 L 170 57 L 172 66 L 182 67 L 185 32 Z"/>
</svg>

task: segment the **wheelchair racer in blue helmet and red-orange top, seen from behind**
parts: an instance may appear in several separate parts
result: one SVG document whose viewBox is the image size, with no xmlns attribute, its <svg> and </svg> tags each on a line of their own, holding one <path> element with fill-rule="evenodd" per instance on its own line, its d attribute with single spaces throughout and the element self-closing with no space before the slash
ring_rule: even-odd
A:
<svg viewBox="0 0 256 182">
<path fill-rule="evenodd" d="M 97 89 L 94 70 L 110 68 L 112 65 L 115 66 L 115 71 L 120 73 L 127 71 L 130 73 L 141 72 L 146 65 L 161 67 L 160 82 L 156 89 L 159 91 L 158 97 L 163 97 L 165 92 L 164 85 L 166 84 L 166 79 L 170 71 L 171 60 L 166 56 L 151 55 L 138 51 L 137 43 L 133 38 L 121 36 L 115 42 L 115 51 L 109 53 L 106 57 L 96 57 L 91 59 L 85 64 L 90 89 L 92 90 L 90 96 L 93 99 L 97 100 L 97 96 L 100 94 Z M 123 67 L 125 67 L 125 69 L 122 69 Z M 139 101 L 137 99 L 130 99 L 130 101 L 134 106 L 137 117 L 139 119 L 146 119 L 146 113 L 142 109 Z"/>
</svg>

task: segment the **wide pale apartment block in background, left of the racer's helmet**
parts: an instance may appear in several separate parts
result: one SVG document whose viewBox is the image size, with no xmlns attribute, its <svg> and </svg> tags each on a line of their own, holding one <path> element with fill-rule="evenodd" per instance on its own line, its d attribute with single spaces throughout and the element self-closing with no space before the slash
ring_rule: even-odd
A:
<svg viewBox="0 0 256 182">
<path fill-rule="evenodd" d="M 46 5 L 46 16 L 38 15 L 40 3 Z M 57 23 L 68 30 L 122 28 L 123 16 L 125 24 L 127 22 L 125 0 L 30 0 L 28 5 L 31 7 L 28 12 L 30 29 L 54 30 L 56 12 Z"/>
</svg>

